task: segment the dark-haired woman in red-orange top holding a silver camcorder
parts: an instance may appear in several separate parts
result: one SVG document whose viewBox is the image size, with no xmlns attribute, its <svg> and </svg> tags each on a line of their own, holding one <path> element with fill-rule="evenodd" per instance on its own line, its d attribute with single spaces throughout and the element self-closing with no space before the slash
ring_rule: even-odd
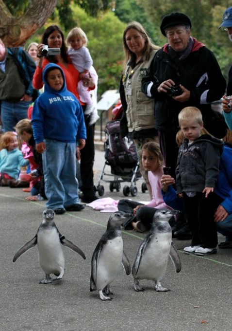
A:
<svg viewBox="0 0 232 331">
<path fill-rule="evenodd" d="M 42 54 L 42 50 L 44 49 L 45 45 L 48 45 L 48 52 L 43 51 L 43 53 L 47 53 L 47 55 Z M 49 50 L 49 49 L 54 49 L 54 48 L 59 48 L 60 53 L 57 55 L 50 55 L 50 53 L 53 53 L 54 50 Z M 41 89 L 43 87 L 42 73 L 46 65 L 50 62 L 56 63 L 59 67 L 62 68 L 65 74 L 67 90 L 72 92 L 78 98 L 84 112 L 86 106 L 83 102 L 80 101 L 77 92 L 77 84 L 80 81 L 79 72 L 68 58 L 64 34 L 57 25 L 51 25 L 44 31 L 42 37 L 42 43 L 38 45 L 37 56 L 39 58 L 39 61 L 33 76 L 34 88 Z M 94 90 L 95 84 L 91 77 L 83 76 L 82 80 L 85 86 L 88 86 L 90 90 Z M 81 190 L 83 192 L 83 196 L 81 198 L 82 201 L 86 203 L 98 199 L 95 195 L 94 181 L 93 181 L 93 177 L 94 177 L 93 165 L 94 165 L 94 155 L 95 155 L 94 125 L 89 126 L 89 120 L 90 117 L 84 116 L 87 139 L 85 142 L 85 147 L 82 149 L 81 152 L 81 179 L 82 179 Z"/>
</svg>

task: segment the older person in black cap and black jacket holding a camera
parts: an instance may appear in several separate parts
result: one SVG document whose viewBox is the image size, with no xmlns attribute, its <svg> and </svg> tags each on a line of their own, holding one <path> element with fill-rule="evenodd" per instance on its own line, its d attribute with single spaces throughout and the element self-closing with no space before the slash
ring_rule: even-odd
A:
<svg viewBox="0 0 232 331">
<path fill-rule="evenodd" d="M 155 98 L 155 128 L 161 151 L 166 166 L 175 170 L 179 112 L 187 106 L 199 108 L 204 127 L 222 138 L 218 126 L 210 126 L 211 102 L 222 97 L 226 81 L 213 53 L 190 36 L 191 20 L 187 15 L 178 12 L 166 15 L 160 29 L 168 42 L 157 51 L 148 75 L 142 80 L 142 91 Z"/>
</svg>

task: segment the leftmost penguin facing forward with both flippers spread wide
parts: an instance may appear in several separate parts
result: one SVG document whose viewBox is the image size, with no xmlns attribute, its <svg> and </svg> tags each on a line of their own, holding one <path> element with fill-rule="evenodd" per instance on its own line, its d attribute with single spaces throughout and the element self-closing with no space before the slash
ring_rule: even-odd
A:
<svg viewBox="0 0 232 331">
<path fill-rule="evenodd" d="M 40 284 L 48 284 L 52 280 L 62 279 L 64 276 L 65 257 L 62 245 L 80 254 L 84 259 L 86 258 L 80 248 L 60 234 L 53 221 L 54 217 L 55 212 L 52 209 L 46 209 L 43 212 L 43 221 L 39 225 L 37 234 L 22 246 L 13 258 L 13 262 L 15 262 L 18 257 L 38 244 L 39 264 L 46 274 L 46 278 L 41 280 Z M 52 279 L 50 274 L 57 277 Z"/>
</svg>

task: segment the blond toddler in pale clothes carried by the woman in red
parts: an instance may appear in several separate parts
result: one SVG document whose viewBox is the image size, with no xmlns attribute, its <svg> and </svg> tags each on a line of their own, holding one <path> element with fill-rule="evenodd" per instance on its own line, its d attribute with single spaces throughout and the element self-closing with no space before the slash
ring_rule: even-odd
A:
<svg viewBox="0 0 232 331">
<path fill-rule="evenodd" d="M 97 110 L 98 75 L 93 67 L 93 60 L 89 50 L 86 48 L 88 39 L 81 28 L 73 28 L 68 33 L 66 41 L 70 45 L 67 53 L 73 65 L 79 71 L 80 78 L 82 79 L 83 76 L 90 75 L 95 83 L 95 89 L 93 91 L 89 91 L 89 88 L 85 86 L 82 80 L 80 80 L 77 86 L 80 100 L 86 103 L 84 115 L 90 115 L 89 125 L 93 125 L 99 119 Z"/>
</svg>

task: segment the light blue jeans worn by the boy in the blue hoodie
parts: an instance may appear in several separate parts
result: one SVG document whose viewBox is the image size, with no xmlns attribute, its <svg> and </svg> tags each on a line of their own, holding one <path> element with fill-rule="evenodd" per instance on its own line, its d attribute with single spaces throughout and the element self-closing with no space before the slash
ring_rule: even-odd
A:
<svg viewBox="0 0 232 331">
<path fill-rule="evenodd" d="M 45 139 L 42 154 L 48 208 L 57 209 L 79 203 L 76 179 L 76 143 Z"/>
</svg>

